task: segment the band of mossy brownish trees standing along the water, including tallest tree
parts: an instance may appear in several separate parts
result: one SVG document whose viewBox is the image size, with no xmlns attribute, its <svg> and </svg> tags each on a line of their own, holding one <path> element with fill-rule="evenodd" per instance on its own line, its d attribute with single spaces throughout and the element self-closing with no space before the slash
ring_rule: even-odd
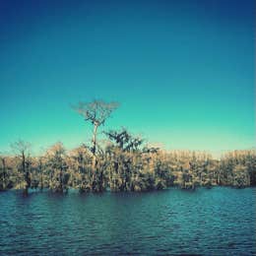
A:
<svg viewBox="0 0 256 256">
<path fill-rule="evenodd" d="M 150 191 L 176 186 L 244 188 L 256 184 L 256 150 L 232 151 L 217 160 L 210 153 L 164 151 L 149 147 L 127 129 L 103 131 L 106 143 L 97 140 L 116 102 L 80 102 L 73 110 L 93 127 L 92 143 L 67 151 L 57 142 L 40 156 L 31 154 L 31 144 L 19 140 L 12 154 L 0 154 L 0 191 L 49 190 L 66 193 Z"/>
</svg>

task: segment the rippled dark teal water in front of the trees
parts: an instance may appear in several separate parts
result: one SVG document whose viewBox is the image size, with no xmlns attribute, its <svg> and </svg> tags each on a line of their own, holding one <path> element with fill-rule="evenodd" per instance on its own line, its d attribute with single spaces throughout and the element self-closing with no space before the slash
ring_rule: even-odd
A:
<svg viewBox="0 0 256 256">
<path fill-rule="evenodd" d="M 256 189 L 0 193 L 0 255 L 256 254 Z"/>
</svg>

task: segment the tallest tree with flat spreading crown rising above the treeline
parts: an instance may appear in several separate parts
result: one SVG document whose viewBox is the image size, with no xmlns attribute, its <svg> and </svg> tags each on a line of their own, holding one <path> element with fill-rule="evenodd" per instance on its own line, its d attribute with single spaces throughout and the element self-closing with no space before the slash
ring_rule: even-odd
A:
<svg viewBox="0 0 256 256">
<path fill-rule="evenodd" d="M 85 118 L 85 121 L 91 122 L 94 126 L 92 153 L 95 159 L 95 166 L 97 129 L 100 125 L 103 125 L 105 123 L 105 120 L 110 116 L 112 111 L 118 107 L 118 105 L 119 104 L 117 102 L 94 100 L 92 102 L 79 102 L 77 106 L 73 107 L 79 114 L 81 114 Z"/>
</svg>

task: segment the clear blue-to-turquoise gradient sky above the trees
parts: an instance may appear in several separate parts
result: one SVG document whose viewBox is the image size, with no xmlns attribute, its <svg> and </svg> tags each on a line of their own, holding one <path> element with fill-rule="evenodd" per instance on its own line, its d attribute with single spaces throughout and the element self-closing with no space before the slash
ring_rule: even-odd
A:
<svg viewBox="0 0 256 256">
<path fill-rule="evenodd" d="M 90 143 L 70 107 L 120 106 L 126 127 L 166 150 L 255 147 L 253 0 L 0 0 L 0 152 Z"/>
</svg>

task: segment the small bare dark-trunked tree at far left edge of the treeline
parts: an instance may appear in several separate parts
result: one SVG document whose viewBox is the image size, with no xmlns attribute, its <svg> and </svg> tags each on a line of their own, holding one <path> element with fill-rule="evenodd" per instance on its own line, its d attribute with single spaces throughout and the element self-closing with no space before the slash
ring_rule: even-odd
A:
<svg viewBox="0 0 256 256">
<path fill-rule="evenodd" d="M 31 186 L 31 174 L 30 174 L 30 148 L 31 144 L 22 140 L 15 142 L 11 145 L 13 151 L 21 159 L 21 169 L 25 179 L 25 194 L 28 194 L 29 187 Z"/>
</svg>

